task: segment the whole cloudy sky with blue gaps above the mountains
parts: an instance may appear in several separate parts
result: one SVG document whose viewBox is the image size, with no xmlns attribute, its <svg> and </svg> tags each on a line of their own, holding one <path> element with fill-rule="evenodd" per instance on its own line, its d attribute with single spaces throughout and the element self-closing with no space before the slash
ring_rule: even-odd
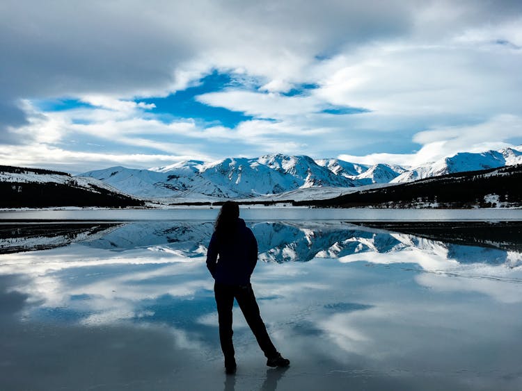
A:
<svg viewBox="0 0 522 391">
<path fill-rule="evenodd" d="M 3 165 L 522 144 L 519 0 L 3 0 L 0 53 Z"/>
</svg>

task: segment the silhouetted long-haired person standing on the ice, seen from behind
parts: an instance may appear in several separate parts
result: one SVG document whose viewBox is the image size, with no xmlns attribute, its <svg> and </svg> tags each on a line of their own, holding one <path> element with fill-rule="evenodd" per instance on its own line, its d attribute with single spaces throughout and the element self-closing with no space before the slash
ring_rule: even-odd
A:
<svg viewBox="0 0 522 391">
<path fill-rule="evenodd" d="M 216 281 L 214 294 L 219 317 L 219 340 L 228 374 L 235 373 L 236 361 L 232 344 L 232 306 L 234 298 L 258 340 L 269 367 L 287 367 L 290 361 L 281 357 L 261 319 L 250 276 L 258 262 L 258 242 L 251 229 L 239 218 L 239 206 L 227 201 L 221 207 L 207 251 L 207 267 Z"/>
</svg>

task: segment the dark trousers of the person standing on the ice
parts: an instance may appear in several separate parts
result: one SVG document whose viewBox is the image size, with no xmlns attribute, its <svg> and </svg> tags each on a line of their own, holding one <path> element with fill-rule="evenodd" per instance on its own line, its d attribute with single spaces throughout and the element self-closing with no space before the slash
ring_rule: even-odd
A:
<svg viewBox="0 0 522 391">
<path fill-rule="evenodd" d="M 267 358 L 277 356 L 278 351 L 272 344 L 267 328 L 261 319 L 251 284 L 226 285 L 215 283 L 214 294 L 216 296 L 219 317 L 219 340 L 221 342 L 221 350 L 223 350 L 223 355 L 225 356 L 225 363 L 234 360 L 234 345 L 232 344 L 232 306 L 234 305 L 234 298 L 242 310 L 246 323 L 248 323 L 248 326 L 254 333 L 255 339 L 258 340 L 264 356 Z"/>
</svg>

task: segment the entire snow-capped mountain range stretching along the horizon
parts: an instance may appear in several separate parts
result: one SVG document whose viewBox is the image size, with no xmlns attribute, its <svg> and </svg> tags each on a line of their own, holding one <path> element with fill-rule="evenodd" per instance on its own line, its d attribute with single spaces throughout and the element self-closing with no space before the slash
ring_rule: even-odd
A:
<svg viewBox="0 0 522 391">
<path fill-rule="evenodd" d="M 514 165 L 522 163 L 521 150 L 457 153 L 413 169 L 276 153 L 259 158 L 226 158 L 212 163 L 186 160 L 151 169 L 111 167 L 81 176 L 97 178 L 122 192 L 149 199 L 248 199 L 307 189 L 314 194 L 315 190 L 323 188 L 349 191 L 349 188 L 364 185 L 409 182 L 454 172 Z"/>
</svg>

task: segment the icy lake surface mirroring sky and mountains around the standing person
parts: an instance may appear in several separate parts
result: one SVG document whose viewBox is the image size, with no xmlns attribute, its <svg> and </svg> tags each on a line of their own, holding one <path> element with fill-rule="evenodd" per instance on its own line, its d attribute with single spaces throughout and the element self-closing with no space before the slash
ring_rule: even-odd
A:
<svg viewBox="0 0 522 391">
<path fill-rule="evenodd" d="M 0 222 L 0 389 L 522 389 L 520 222 L 243 210 L 259 242 L 253 288 L 291 366 L 264 365 L 235 308 L 227 376 L 205 267 L 216 210 L 201 213 Z M 84 219 L 113 217 L 98 216 Z"/>
</svg>

